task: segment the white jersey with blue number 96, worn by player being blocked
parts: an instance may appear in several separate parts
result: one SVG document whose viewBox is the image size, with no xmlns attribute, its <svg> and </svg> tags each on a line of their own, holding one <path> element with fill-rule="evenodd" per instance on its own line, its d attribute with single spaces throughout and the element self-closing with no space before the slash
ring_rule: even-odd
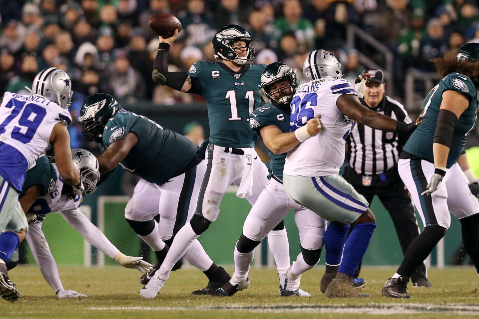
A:
<svg viewBox="0 0 479 319">
<path fill-rule="evenodd" d="M 323 131 L 288 152 L 284 173 L 291 176 L 338 174 L 344 161 L 345 139 L 354 124 L 336 106 L 342 94 L 357 95 L 343 79 L 311 81 L 301 85 L 291 101 L 291 132 L 321 114 Z"/>
</svg>

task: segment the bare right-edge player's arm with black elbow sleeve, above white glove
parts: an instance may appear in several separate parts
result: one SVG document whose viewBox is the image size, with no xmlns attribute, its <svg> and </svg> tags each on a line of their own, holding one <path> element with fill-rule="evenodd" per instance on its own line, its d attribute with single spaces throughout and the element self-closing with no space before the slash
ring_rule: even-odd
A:
<svg viewBox="0 0 479 319">
<path fill-rule="evenodd" d="M 436 167 L 446 167 L 446 163 L 448 161 L 448 156 L 449 156 L 449 147 L 451 146 L 450 141 L 452 141 L 454 127 L 456 125 L 457 120 L 461 116 L 461 114 L 463 114 L 463 112 L 468 107 L 469 107 L 469 101 L 463 94 L 456 91 L 451 91 L 451 90 L 445 91 L 443 93 L 443 100 L 441 102 L 441 107 L 439 108 L 440 114 L 438 115 L 438 124 L 436 126 L 436 132 L 434 133 L 435 140 L 433 144 L 433 155 L 434 155 L 434 165 Z M 443 116 L 442 116 L 443 114 L 445 114 L 445 116 L 447 117 L 450 117 L 450 119 L 447 119 L 447 118 L 443 119 Z M 456 116 L 456 118 L 454 118 L 454 116 Z M 453 123 L 451 123 L 451 121 Z M 442 126 L 443 123 L 445 123 L 448 126 L 449 130 L 443 130 L 443 129 L 438 130 L 437 128 L 438 125 Z M 448 135 L 444 137 L 448 141 L 445 142 L 444 139 L 441 139 L 442 137 L 439 135 L 443 135 L 443 134 Z M 439 140 L 437 138 L 439 138 Z M 442 143 L 445 143 L 446 145 Z M 449 143 L 449 146 L 448 146 L 448 143 Z"/>
</svg>

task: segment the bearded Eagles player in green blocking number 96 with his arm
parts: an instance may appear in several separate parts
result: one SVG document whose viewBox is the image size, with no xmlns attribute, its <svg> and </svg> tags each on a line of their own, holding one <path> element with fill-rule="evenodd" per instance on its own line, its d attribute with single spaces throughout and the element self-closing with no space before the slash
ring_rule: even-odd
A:
<svg viewBox="0 0 479 319">
<path fill-rule="evenodd" d="M 246 217 L 243 233 L 235 245 L 235 272 L 217 293 L 220 296 L 232 296 L 249 285 L 248 272 L 254 258 L 254 248 L 286 217 L 290 209 L 294 209 L 301 253 L 280 279 L 280 294 L 285 297 L 311 296 L 299 289 L 300 279 L 319 261 L 326 221 L 289 198 L 282 182 L 286 152 L 300 143 L 294 133 L 289 133 L 290 102 L 297 88 L 296 74 L 288 65 L 274 62 L 261 75 L 260 86 L 269 103 L 251 113 L 250 126 L 259 131 L 268 148 L 271 178 Z M 321 129 L 318 117 L 308 122 L 311 135 L 316 135 Z"/>
</svg>

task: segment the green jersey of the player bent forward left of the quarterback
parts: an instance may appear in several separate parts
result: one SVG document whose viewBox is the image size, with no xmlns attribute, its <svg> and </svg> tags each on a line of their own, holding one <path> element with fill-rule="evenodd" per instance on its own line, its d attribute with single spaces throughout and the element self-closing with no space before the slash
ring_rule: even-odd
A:
<svg viewBox="0 0 479 319">
<path fill-rule="evenodd" d="M 113 114 L 105 125 L 102 151 L 129 132 L 138 137 L 138 143 L 121 165 L 150 183 L 164 184 L 201 160 L 196 156 L 198 147 L 184 136 L 123 109 Z"/>
</svg>

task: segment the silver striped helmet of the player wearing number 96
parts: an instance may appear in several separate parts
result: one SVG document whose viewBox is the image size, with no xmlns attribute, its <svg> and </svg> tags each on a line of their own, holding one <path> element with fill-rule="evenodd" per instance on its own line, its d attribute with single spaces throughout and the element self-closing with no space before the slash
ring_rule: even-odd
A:
<svg viewBox="0 0 479 319">
<path fill-rule="evenodd" d="M 303 64 L 303 74 L 307 82 L 324 79 L 326 81 L 343 78 L 341 63 L 329 51 L 314 50 Z"/>
</svg>

